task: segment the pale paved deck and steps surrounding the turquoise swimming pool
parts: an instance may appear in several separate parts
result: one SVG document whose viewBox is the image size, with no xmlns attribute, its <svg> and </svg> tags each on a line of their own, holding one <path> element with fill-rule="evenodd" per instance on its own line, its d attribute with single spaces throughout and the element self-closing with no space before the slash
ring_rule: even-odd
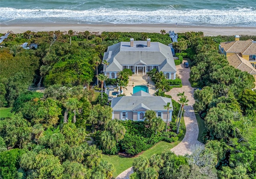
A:
<svg viewBox="0 0 256 179">
<path fill-rule="evenodd" d="M 132 78 L 142 80 L 142 77 L 132 77 Z M 134 83 L 134 86 L 137 86 L 137 85 L 147 86 L 148 85 L 148 93 L 151 94 L 152 96 L 154 96 L 154 94 L 156 92 L 156 87 L 155 87 L 155 83 L 151 79 L 149 80 L 149 83 L 146 82 L 146 81 L 144 81 L 144 82 L 133 82 L 133 83 Z M 124 94 L 126 94 L 126 96 L 132 96 L 134 86 L 132 86 L 132 81 L 129 80 L 128 86 L 126 87 L 127 90 L 124 89 Z"/>
</svg>

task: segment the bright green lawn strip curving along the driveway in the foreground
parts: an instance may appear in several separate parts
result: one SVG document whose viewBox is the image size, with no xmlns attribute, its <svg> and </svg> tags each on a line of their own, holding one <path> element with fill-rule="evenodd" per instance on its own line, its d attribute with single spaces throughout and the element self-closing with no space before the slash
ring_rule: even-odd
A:
<svg viewBox="0 0 256 179">
<path fill-rule="evenodd" d="M 183 117 L 182 117 L 181 122 L 182 122 L 182 124 L 184 124 L 184 118 Z M 172 143 L 163 142 L 163 141 L 158 142 L 152 148 L 144 151 L 140 155 L 143 155 L 145 157 L 150 158 L 154 153 L 162 153 L 166 149 L 174 148 L 175 146 L 177 146 L 182 141 L 182 139 L 185 136 L 185 133 L 186 133 L 186 130 L 184 130 L 184 134 L 176 142 L 172 142 Z M 106 155 L 106 154 L 103 154 L 102 158 L 114 165 L 115 171 L 113 173 L 113 178 L 116 178 L 120 173 L 122 173 L 126 169 L 132 167 L 133 160 L 136 157 L 128 158 L 128 157 L 124 157 L 124 156 L 121 156 L 121 155 Z"/>
</svg>

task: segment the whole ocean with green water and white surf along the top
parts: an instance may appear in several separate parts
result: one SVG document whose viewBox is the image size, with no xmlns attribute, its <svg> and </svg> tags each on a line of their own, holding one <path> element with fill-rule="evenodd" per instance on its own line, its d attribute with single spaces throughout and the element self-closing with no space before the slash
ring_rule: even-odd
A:
<svg viewBox="0 0 256 179">
<path fill-rule="evenodd" d="M 0 0 L 0 23 L 256 27 L 256 0 Z"/>
</svg>

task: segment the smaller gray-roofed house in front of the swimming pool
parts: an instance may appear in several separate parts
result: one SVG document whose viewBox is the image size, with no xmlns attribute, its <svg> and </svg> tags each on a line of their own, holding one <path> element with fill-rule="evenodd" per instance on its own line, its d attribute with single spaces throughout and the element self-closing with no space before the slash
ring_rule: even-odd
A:
<svg viewBox="0 0 256 179">
<path fill-rule="evenodd" d="M 154 110 L 156 116 L 163 120 L 167 118 L 167 109 L 164 108 L 170 102 L 168 121 L 172 121 L 172 99 L 162 96 L 151 96 L 147 92 L 138 91 L 132 96 L 120 96 L 111 101 L 112 119 L 143 121 L 146 110 Z"/>
</svg>

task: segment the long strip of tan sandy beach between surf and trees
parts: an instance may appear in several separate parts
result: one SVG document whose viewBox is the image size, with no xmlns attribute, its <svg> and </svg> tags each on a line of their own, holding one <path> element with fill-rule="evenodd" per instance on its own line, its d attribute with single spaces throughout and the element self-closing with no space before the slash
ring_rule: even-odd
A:
<svg viewBox="0 0 256 179">
<path fill-rule="evenodd" d="M 223 26 L 184 26 L 175 24 L 61 24 L 61 23 L 22 23 L 22 24 L 0 24 L 0 32 L 8 30 L 14 33 L 24 31 L 122 31 L 122 32 L 158 32 L 160 30 L 174 30 L 175 32 L 203 31 L 204 35 L 256 35 L 255 27 L 223 27 Z"/>
</svg>

